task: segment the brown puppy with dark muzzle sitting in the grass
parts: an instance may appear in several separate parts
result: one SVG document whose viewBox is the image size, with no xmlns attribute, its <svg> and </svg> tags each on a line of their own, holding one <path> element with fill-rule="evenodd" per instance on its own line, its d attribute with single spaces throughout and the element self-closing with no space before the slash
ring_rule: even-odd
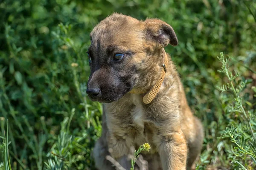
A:
<svg viewBox="0 0 256 170">
<path fill-rule="evenodd" d="M 105 103 L 102 136 L 93 150 L 96 167 L 114 170 L 105 159 L 111 155 L 129 170 L 130 148 L 149 143 L 151 150 L 143 153 L 149 170 L 191 169 L 201 151 L 203 127 L 190 111 L 175 65 L 163 49 L 178 44 L 172 27 L 158 19 L 112 14 L 90 37 L 87 94 Z M 153 87 L 159 90 L 156 96 Z M 148 93 L 153 96 L 145 99 Z"/>
</svg>

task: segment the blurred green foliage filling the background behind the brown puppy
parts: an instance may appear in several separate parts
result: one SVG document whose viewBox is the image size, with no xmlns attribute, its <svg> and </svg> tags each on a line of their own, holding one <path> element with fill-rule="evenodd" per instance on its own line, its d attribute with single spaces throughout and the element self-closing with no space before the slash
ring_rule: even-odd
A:
<svg viewBox="0 0 256 170">
<path fill-rule="evenodd" d="M 113 12 L 140 20 L 156 17 L 174 28 L 179 45 L 166 51 L 205 127 L 198 164 L 230 167 L 237 156 L 230 140 L 218 137 L 237 118 L 225 111 L 216 88 L 225 82 L 216 56 L 223 51 L 234 58 L 234 70 L 249 79 L 245 100 L 256 102 L 250 92 L 256 85 L 251 71 L 256 70 L 255 0 L 4 0 L 0 135 L 9 119 L 13 169 L 93 170 L 90 152 L 101 135 L 102 106 L 85 94 L 90 74 L 86 51 L 90 31 Z"/>
</svg>

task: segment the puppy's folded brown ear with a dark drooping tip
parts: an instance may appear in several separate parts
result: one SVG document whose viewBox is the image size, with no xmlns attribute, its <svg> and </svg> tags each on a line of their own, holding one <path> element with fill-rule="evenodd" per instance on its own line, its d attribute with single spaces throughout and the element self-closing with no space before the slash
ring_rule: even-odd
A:
<svg viewBox="0 0 256 170">
<path fill-rule="evenodd" d="M 169 24 L 158 19 L 147 19 L 144 23 L 147 39 L 156 41 L 162 47 L 169 43 L 173 46 L 178 45 L 177 36 Z"/>
</svg>

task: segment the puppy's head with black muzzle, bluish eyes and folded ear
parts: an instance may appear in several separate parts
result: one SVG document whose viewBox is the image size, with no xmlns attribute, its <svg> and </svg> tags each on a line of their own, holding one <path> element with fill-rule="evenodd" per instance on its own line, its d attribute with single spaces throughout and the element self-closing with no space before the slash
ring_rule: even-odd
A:
<svg viewBox="0 0 256 170">
<path fill-rule="evenodd" d="M 178 44 L 167 23 L 122 14 L 102 20 L 90 38 L 87 94 L 99 102 L 116 101 L 131 90 L 148 90 L 159 78 L 162 48 Z"/>
</svg>

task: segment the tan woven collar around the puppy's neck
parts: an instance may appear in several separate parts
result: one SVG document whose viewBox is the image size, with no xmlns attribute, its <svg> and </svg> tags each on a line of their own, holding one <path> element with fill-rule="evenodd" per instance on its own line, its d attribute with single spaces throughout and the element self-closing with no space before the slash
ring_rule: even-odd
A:
<svg viewBox="0 0 256 170">
<path fill-rule="evenodd" d="M 160 90 L 160 87 L 163 83 L 163 79 L 165 77 L 167 66 L 168 66 L 168 57 L 166 55 L 166 52 L 163 49 L 163 62 L 162 62 L 162 70 L 159 79 L 157 80 L 156 84 L 143 96 L 143 102 L 145 104 L 151 103 L 152 100 L 157 96 L 158 91 Z M 131 91 L 132 94 L 142 94 L 145 92 L 137 92 L 137 91 Z"/>
</svg>

